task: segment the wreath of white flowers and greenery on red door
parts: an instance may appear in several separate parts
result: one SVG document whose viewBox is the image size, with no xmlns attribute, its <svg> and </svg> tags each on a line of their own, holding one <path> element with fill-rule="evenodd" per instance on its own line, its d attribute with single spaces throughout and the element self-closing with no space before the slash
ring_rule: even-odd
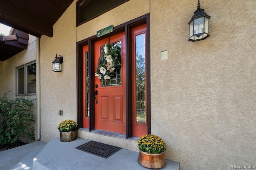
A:
<svg viewBox="0 0 256 170">
<path fill-rule="evenodd" d="M 121 41 L 118 43 L 105 44 L 104 51 L 100 54 L 95 73 L 99 79 L 108 80 L 116 74 L 116 68 L 121 68 L 119 57 Z"/>
</svg>

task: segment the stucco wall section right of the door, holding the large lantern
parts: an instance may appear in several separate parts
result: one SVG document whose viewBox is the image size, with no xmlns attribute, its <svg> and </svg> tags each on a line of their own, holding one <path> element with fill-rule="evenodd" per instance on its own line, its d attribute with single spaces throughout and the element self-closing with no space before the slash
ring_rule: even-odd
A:
<svg viewBox="0 0 256 170">
<path fill-rule="evenodd" d="M 181 169 L 256 166 L 256 3 L 200 2 L 211 36 L 190 42 L 197 1 L 151 0 L 152 133 Z"/>
</svg>

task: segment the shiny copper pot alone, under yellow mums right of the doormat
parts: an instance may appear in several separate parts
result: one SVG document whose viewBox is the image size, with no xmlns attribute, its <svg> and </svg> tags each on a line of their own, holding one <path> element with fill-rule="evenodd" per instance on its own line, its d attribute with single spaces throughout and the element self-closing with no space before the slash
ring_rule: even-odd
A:
<svg viewBox="0 0 256 170">
<path fill-rule="evenodd" d="M 164 159 L 164 152 L 162 153 L 148 153 L 148 152 L 139 152 L 138 162 L 146 168 L 162 168 L 165 166 L 166 162 Z"/>
</svg>

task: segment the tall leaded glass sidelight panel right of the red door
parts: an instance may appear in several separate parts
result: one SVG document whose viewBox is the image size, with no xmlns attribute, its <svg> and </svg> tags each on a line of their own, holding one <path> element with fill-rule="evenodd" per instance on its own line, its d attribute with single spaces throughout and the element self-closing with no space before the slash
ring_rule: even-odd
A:
<svg viewBox="0 0 256 170">
<path fill-rule="evenodd" d="M 146 46 L 145 33 L 135 37 L 136 123 L 146 123 Z"/>
</svg>

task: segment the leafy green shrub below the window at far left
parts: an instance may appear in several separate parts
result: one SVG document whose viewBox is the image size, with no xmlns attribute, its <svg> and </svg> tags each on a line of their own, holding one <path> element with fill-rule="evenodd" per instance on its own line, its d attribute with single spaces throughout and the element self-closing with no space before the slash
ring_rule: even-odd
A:
<svg viewBox="0 0 256 170">
<path fill-rule="evenodd" d="M 7 93 L 0 97 L 0 144 L 17 147 L 20 135 L 34 139 L 34 114 L 30 111 L 33 100 L 8 99 Z"/>
</svg>

